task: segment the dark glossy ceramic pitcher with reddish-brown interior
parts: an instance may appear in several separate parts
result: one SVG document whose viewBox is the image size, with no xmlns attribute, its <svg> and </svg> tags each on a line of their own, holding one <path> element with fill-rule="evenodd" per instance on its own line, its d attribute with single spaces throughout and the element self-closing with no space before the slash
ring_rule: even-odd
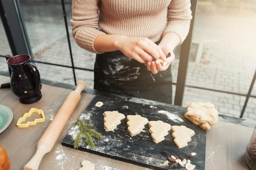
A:
<svg viewBox="0 0 256 170">
<path fill-rule="evenodd" d="M 31 57 L 19 54 L 9 57 L 7 64 L 11 68 L 11 89 L 23 104 L 31 104 L 41 99 L 40 74 L 37 67 L 30 63 Z"/>
</svg>

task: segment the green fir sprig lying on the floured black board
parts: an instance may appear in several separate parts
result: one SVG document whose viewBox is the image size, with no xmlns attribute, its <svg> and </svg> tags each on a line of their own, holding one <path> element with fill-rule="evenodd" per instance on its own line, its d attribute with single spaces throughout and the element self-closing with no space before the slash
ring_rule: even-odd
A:
<svg viewBox="0 0 256 170">
<path fill-rule="evenodd" d="M 93 128 L 92 123 L 87 124 L 81 119 L 76 120 L 76 125 L 78 126 L 79 132 L 74 141 L 74 148 L 78 149 L 78 147 L 81 145 L 82 138 L 84 138 L 85 143 L 89 146 L 89 148 L 94 149 L 95 146 L 93 143 L 93 138 L 102 139 L 101 134 L 91 129 Z"/>
</svg>

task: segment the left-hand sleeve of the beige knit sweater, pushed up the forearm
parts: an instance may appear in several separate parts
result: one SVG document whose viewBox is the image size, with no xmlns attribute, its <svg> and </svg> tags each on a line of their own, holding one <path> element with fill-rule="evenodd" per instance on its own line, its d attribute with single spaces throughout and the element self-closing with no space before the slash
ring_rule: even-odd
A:
<svg viewBox="0 0 256 170">
<path fill-rule="evenodd" d="M 99 0 L 73 0 L 72 5 L 72 35 L 79 47 L 93 53 L 94 40 L 99 34 L 105 34 L 99 28 Z"/>
</svg>

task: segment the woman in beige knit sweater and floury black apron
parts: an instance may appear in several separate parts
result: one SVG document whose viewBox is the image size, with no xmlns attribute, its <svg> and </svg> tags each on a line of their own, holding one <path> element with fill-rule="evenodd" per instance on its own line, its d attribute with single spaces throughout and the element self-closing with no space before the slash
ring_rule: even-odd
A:
<svg viewBox="0 0 256 170">
<path fill-rule="evenodd" d="M 72 10 L 76 43 L 97 53 L 94 89 L 172 104 L 173 50 L 189 31 L 190 0 L 73 0 Z"/>
</svg>

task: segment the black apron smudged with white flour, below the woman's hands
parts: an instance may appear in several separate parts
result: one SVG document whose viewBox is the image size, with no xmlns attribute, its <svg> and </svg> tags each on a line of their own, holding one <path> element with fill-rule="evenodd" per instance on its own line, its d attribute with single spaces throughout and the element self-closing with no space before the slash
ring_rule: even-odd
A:
<svg viewBox="0 0 256 170">
<path fill-rule="evenodd" d="M 171 65 L 166 71 L 152 74 L 144 64 L 121 51 L 97 54 L 94 89 L 172 104 Z"/>
</svg>

